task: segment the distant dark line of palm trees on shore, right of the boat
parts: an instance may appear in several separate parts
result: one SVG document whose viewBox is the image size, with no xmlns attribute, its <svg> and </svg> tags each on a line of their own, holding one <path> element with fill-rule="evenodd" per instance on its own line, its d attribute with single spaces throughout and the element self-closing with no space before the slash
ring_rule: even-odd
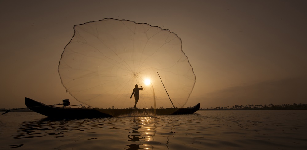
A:
<svg viewBox="0 0 307 150">
<path fill-rule="evenodd" d="M 307 104 L 282 104 L 282 105 L 235 105 L 232 107 L 200 108 L 200 110 L 307 110 Z"/>
</svg>

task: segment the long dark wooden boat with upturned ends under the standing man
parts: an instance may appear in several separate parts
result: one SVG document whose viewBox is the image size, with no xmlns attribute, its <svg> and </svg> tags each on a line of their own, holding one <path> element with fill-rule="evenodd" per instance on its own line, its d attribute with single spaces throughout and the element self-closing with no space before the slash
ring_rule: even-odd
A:
<svg viewBox="0 0 307 150">
<path fill-rule="evenodd" d="M 64 108 L 45 105 L 30 98 L 25 98 L 25 105 L 34 112 L 52 118 L 103 118 L 131 115 L 180 115 L 192 114 L 200 108 L 200 103 L 190 108 L 143 108 L 143 109 L 101 109 L 101 108 Z M 60 105 L 60 104 L 59 104 Z"/>
</svg>

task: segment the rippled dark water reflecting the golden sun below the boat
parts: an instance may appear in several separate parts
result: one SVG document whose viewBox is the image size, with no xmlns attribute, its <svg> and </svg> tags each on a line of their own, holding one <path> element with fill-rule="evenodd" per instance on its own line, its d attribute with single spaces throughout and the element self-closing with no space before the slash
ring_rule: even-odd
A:
<svg viewBox="0 0 307 150">
<path fill-rule="evenodd" d="M 52 120 L 0 115 L 0 149 L 307 149 L 307 110 L 197 111 L 192 115 Z"/>
</svg>

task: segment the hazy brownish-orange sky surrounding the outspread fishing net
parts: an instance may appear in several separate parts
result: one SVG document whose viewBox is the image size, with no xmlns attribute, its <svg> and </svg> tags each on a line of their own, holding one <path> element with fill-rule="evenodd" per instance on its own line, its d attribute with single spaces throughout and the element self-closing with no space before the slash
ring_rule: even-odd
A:
<svg viewBox="0 0 307 150">
<path fill-rule="evenodd" d="M 70 99 L 57 72 L 73 26 L 103 18 L 169 29 L 196 75 L 187 106 L 307 103 L 307 1 L 0 1 L 0 108 Z M 132 87 L 133 88 L 133 87 Z"/>
</svg>

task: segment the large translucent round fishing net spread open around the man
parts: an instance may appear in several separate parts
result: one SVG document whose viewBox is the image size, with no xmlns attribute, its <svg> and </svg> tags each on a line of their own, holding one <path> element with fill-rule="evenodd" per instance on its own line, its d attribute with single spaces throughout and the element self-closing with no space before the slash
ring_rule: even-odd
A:
<svg viewBox="0 0 307 150">
<path fill-rule="evenodd" d="M 58 72 L 77 101 L 99 108 L 133 107 L 130 96 L 138 84 L 143 90 L 137 107 L 153 107 L 154 98 L 157 108 L 173 107 L 169 97 L 175 107 L 188 102 L 195 74 L 175 33 L 112 18 L 75 25 L 74 31 Z"/>
</svg>

